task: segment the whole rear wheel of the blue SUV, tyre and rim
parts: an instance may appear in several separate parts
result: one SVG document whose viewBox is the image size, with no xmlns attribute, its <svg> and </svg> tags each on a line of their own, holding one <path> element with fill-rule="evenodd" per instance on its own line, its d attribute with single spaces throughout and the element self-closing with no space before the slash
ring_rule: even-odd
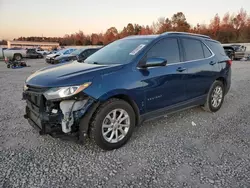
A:
<svg viewBox="0 0 250 188">
<path fill-rule="evenodd" d="M 216 80 L 209 89 L 206 103 L 202 107 L 208 112 L 217 112 L 224 101 L 225 87 L 221 81 Z"/>
</svg>

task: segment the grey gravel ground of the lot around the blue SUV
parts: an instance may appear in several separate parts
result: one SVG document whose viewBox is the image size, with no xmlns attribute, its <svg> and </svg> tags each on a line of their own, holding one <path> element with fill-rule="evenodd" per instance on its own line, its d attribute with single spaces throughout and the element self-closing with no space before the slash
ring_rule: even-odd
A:
<svg viewBox="0 0 250 188">
<path fill-rule="evenodd" d="M 38 135 L 23 118 L 21 94 L 25 78 L 46 64 L 28 64 L 0 62 L 0 187 L 250 187 L 250 62 L 234 62 L 219 112 L 152 120 L 109 152 Z"/>
</svg>

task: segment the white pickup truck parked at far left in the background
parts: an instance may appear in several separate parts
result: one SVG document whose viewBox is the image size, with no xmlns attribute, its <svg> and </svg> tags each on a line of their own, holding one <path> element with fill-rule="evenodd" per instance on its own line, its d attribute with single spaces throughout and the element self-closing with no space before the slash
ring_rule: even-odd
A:
<svg viewBox="0 0 250 188">
<path fill-rule="evenodd" d="M 23 48 L 8 48 L 3 50 L 4 57 L 20 61 L 22 58 L 26 57 L 26 49 Z"/>
</svg>

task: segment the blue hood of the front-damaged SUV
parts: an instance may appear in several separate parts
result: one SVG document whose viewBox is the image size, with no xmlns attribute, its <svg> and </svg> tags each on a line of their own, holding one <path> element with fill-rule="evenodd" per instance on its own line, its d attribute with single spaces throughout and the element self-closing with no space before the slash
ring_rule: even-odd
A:
<svg viewBox="0 0 250 188">
<path fill-rule="evenodd" d="M 25 83 L 38 87 L 63 87 L 80 85 L 112 71 L 117 71 L 123 65 L 96 65 L 73 61 L 65 64 L 52 65 L 30 75 Z"/>
</svg>

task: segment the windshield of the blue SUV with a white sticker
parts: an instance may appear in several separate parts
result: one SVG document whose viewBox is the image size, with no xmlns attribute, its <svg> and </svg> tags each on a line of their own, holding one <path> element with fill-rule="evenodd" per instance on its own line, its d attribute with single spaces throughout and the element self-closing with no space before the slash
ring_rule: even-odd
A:
<svg viewBox="0 0 250 188">
<path fill-rule="evenodd" d="M 84 62 L 90 64 L 127 64 L 152 40 L 153 38 L 117 40 L 101 48 Z"/>
</svg>

